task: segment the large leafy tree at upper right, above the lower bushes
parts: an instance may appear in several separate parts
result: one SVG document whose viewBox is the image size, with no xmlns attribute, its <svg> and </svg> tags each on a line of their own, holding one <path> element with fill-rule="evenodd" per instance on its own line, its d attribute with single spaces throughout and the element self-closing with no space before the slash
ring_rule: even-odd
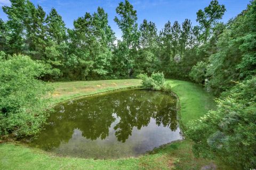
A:
<svg viewBox="0 0 256 170">
<path fill-rule="evenodd" d="M 218 37 L 217 50 L 209 58 L 206 73 L 210 77 L 206 87 L 215 94 L 255 75 L 255 6 L 253 1 Z"/>
</svg>

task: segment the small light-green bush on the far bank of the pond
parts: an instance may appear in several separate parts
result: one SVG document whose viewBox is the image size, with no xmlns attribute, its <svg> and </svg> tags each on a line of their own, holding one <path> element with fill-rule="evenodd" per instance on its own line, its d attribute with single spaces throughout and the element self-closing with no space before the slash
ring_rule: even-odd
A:
<svg viewBox="0 0 256 170">
<path fill-rule="evenodd" d="M 153 72 L 151 77 L 146 74 L 139 74 L 137 78 L 142 79 L 142 86 L 148 90 L 162 90 L 164 87 L 165 79 L 163 72 Z"/>
</svg>

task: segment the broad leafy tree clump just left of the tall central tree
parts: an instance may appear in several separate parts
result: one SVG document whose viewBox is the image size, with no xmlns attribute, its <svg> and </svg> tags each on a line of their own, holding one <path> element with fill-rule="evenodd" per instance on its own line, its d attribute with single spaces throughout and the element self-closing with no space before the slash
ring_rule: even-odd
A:
<svg viewBox="0 0 256 170">
<path fill-rule="evenodd" d="M 97 13 L 86 13 L 75 20 L 74 27 L 68 30 L 71 59 L 67 60 L 68 71 L 76 71 L 71 74 L 78 79 L 106 76 L 110 71 L 111 49 L 115 40 L 108 26 L 107 14 L 99 7 Z"/>
</svg>

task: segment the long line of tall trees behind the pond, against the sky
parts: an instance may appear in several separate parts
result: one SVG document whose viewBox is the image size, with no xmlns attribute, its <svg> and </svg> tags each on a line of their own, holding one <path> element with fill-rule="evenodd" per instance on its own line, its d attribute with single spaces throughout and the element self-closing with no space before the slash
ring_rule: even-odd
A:
<svg viewBox="0 0 256 170">
<path fill-rule="evenodd" d="M 101 7 L 86 12 L 69 29 L 54 8 L 46 14 L 28 0 L 10 2 L 11 6 L 3 6 L 8 20 L 0 20 L 0 51 L 6 57 L 25 54 L 44 63 L 44 80 L 131 78 L 157 71 L 165 77 L 189 79 L 190 69 L 207 59 L 203 45 L 226 11 L 215 0 L 197 12 L 199 26 L 192 26 L 189 19 L 167 21 L 158 31 L 146 19 L 139 25 L 137 11 L 125 0 L 116 7 L 114 21 L 122 30 L 118 40 Z"/>
</svg>

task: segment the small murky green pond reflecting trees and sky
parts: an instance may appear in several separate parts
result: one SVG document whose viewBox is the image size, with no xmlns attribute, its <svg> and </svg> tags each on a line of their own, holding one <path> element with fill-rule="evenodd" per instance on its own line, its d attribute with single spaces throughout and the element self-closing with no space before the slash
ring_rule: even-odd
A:
<svg viewBox="0 0 256 170">
<path fill-rule="evenodd" d="M 159 91 L 126 90 L 59 104 L 30 144 L 60 156 L 136 157 L 182 139 L 177 99 Z"/>
</svg>

